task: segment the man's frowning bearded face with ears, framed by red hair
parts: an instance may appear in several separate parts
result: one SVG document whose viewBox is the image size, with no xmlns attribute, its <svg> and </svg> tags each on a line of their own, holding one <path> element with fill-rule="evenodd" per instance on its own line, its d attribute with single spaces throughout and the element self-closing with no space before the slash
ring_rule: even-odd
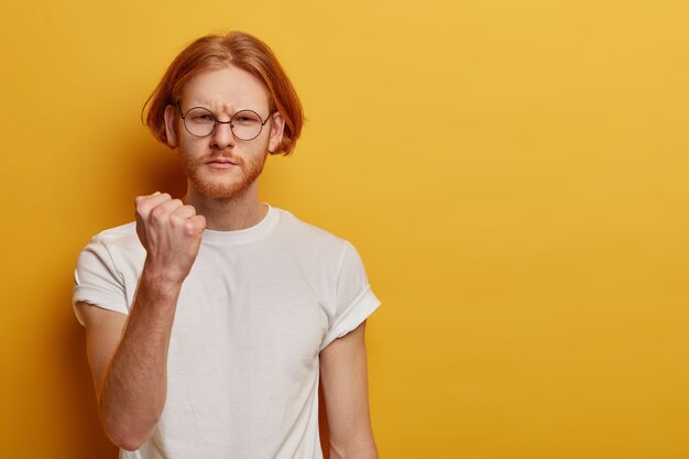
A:
<svg viewBox="0 0 689 459">
<path fill-rule="evenodd" d="M 253 110 L 265 120 L 258 138 L 237 139 L 229 124 L 216 125 L 205 138 L 192 135 L 184 127 L 179 111 L 167 107 L 165 128 L 168 144 L 177 147 L 189 193 L 209 198 L 237 197 L 255 189 L 269 151 L 282 141 L 284 120 L 280 113 L 270 114 L 270 95 L 253 75 L 228 66 L 203 72 L 184 87 L 182 113 L 193 107 L 209 109 L 219 121 L 228 121 L 240 110 Z"/>
</svg>

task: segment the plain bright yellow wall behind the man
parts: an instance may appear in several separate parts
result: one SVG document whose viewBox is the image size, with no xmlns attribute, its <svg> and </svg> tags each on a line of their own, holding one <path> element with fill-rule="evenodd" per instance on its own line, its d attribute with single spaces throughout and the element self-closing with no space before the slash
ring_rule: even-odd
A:
<svg viewBox="0 0 689 459">
<path fill-rule="evenodd" d="M 2 2 L 3 458 L 114 458 L 73 266 L 179 195 L 143 101 L 193 39 L 271 44 L 308 122 L 262 197 L 351 240 L 382 458 L 689 457 L 685 0 Z"/>
</svg>

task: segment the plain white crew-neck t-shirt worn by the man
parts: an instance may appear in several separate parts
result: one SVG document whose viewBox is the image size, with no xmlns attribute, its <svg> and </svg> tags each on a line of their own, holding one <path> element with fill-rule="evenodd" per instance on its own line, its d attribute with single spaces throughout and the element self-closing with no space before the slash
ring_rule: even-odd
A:
<svg viewBox="0 0 689 459">
<path fill-rule="evenodd" d="M 144 258 L 133 222 L 99 233 L 79 255 L 74 302 L 128 314 Z M 177 303 L 157 429 L 120 457 L 321 459 L 318 354 L 379 305 L 356 249 L 285 210 L 206 230 Z"/>
</svg>

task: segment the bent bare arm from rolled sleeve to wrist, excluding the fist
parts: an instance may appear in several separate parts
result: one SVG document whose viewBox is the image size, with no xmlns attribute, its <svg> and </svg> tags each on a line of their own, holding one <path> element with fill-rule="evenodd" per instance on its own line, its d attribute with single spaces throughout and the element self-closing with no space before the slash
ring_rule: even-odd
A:
<svg viewBox="0 0 689 459">
<path fill-rule="evenodd" d="M 77 307 L 86 342 L 98 412 L 110 440 L 135 450 L 153 434 L 165 405 L 167 347 L 176 299 L 152 302 L 140 284 L 130 316 L 86 303 Z"/>
</svg>

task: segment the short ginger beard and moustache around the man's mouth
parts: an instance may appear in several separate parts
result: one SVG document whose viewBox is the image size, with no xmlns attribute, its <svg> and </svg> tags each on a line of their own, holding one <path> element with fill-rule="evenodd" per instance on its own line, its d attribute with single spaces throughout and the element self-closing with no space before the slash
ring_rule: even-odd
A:
<svg viewBox="0 0 689 459">
<path fill-rule="evenodd" d="M 261 175 L 267 152 L 252 154 L 247 160 L 233 155 L 209 154 L 194 159 L 183 151 L 182 168 L 189 186 L 209 198 L 232 198 L 245 192 Z M 227 171 L 208 171 L 205 164 L 214 157 L 228 156 L 236 164 Z"/>
</svg>

